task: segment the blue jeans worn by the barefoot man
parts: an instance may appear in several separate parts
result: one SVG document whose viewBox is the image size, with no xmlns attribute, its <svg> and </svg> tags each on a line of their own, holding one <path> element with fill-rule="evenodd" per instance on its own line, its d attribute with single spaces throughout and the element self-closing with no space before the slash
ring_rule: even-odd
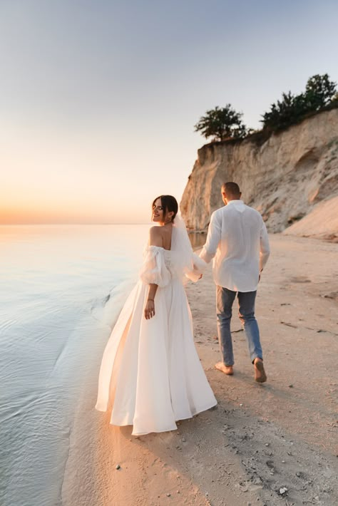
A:
<svg viewBox="0 0 338 506">
<path fill-rule="evenodd" d="M 233 366 L 234 355 L 232 351 L 232 338 L 230 332 L 230 320 L 232 316 L 232 304 L 237 292 L 228 290 L 223 286 L 216 288 L 217 329 L 220 351 L 225 366 Z M 251 361 L 255 358 L 263 358 L 260 346 L 260 330 L 255 319 L 255 299 L 257 291 L 238 291 L 238 316 L 244 327 Z"/>
</svg>

